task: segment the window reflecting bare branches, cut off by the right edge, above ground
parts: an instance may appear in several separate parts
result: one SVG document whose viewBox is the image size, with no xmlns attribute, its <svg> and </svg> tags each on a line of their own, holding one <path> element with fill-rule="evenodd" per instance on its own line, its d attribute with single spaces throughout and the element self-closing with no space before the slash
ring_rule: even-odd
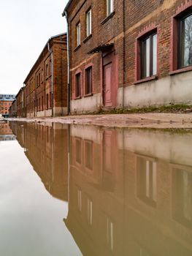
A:
<svg viewBox="0 0 192 256">
<path fill-rule="evenodd" d="M 192 12 L 179 22 L 179 68 L 192 65 Z"/>
</svg>

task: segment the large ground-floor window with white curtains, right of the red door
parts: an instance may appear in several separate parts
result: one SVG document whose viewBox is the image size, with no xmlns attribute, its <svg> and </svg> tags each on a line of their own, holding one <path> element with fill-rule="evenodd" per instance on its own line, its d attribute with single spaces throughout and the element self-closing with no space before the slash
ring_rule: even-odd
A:
<svg viewBox="0 0 192 256">
<path fill-rule="evenodd" d="M 157 74 L 157 34 L 156 32 L 140 40 L 141 78 Z"/>
</svg>

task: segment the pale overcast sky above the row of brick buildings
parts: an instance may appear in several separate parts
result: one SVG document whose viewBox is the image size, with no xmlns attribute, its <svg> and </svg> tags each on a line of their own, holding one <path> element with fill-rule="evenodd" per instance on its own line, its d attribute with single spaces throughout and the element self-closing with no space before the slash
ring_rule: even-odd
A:
<svg viewBox="0 0 192 256">
<path fill-rule="evenodd" d="M 0 1 L 0 94 L 17 94 L 47 40 L 66 32 L 67 1 Z"/>
</svg>

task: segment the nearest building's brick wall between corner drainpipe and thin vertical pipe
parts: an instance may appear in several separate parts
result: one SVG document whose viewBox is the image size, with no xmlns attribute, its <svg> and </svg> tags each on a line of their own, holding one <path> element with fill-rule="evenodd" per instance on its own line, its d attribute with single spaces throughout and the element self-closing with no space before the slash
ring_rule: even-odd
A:
<svg viewBox="0 0 192 256">
<path fill-rule="evenodd" d="M 101 22 L 107 17 L 105 1 L 87 0 L 78 1 L 78 4 L 69 9 L 70 23 L 70 52 L 71 52 L 71 80 L 72 80 L 72 99 L 75 98 L 75 73 L 77 70 L 82 72 L 82 97 L 85 95 L 85 67 L 93 64 L 93 94 L 101 92 L 101 53 L 88 54 L 89 50 L 110 42 L 115 42 L 115 55 L 120 60 L 118 63 L 119 83 L 123 83 L 123 1 L 115 1 L 115 14 L 105 23 Z M 91 7 L 92 10 L 92 37 L 86 39 L 86 15 L 85 13 Z M 81 23 L 81 46 L 77 47 L 76 25 Z M 118 35 L 120 35 L 118 37 Z"/>
</svg>

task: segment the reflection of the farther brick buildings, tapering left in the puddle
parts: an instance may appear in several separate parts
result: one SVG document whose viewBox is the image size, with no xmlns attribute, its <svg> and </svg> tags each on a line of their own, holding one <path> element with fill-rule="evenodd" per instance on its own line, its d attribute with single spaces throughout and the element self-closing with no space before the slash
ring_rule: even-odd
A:
<svg viewBox="0 0 192 256">
<path fill-rule="evenodd" d="M 68 200 L 67 127 L 26 122 L 10 125 L 47 191 L 53 197 Z"/>
</svg>

